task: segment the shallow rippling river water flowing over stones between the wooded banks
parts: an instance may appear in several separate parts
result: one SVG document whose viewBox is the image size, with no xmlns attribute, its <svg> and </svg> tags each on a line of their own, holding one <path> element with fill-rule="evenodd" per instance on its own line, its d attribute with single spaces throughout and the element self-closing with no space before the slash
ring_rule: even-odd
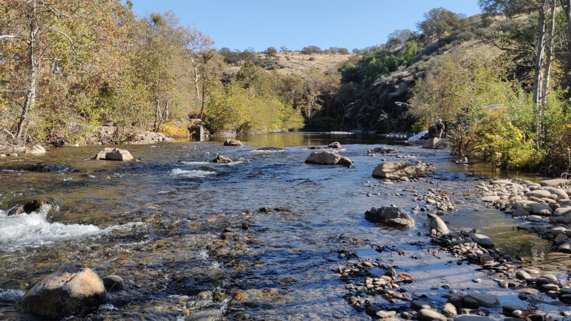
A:
<svg viewBox="0 0 571 321">
<path fill-rule="evenodd" d="M 568 255 L 550 252 L 549 243 L 513 229 L 521 222 L 486 209 L 476 195 L 477 182 L 466 175 L 518 173 L 492 172 L 485 163 L 466 168 L 446 150 L 403 146 L 376 135 L 272 133 L 237 139 L 246 146 L 222 146 L 223 139 L 119 146 L 130 151 L 132 162 L 86 160 L 102 146 L 0 159 L 0 319 L 41 320 L 16 311 L 3 299 L 14 293 L 7 290 L 26 291 L 73 262 L 100 276 L 120 275 L 125 286 L 110 292 L 108 304 L 72 320 L 368 320 L 343 298 L 345 280 L 332 271 L 347 262 L 339 250 L 415 276 L 408 288 L 416 296 L 445 302 L 440 296 L 448 286 L 493 294 L 502 304 L 568 310 L 543 295 L 520 302 L 517 292 L 499 288 L 476 266 L 458 266 L 457 258 L 430 243 L 425 212 L 412 212 L 417 224 L 408 230 L 363 218 L 373 206 L 423 207 L 416 197 L 429 189 L 449 192 L 455 205 L 443 217 L 449 227 L 477 228 L 503 250 L 524 256 L 526 265 L 566 278 Z M 343 145 L 340 154 L 351 158 L 353 167 L 304 164 L 312 152 L 308 146 L 333 141 Z M 398 154 L 366 156 L 367 149 L 383 145 L 436 163 L 436 172 L 419 182 L 384 184 L 372 178 L 381 159 L 407 160 Z M 236 162 L 211 163 L 216 155 Z M 37 162 L 78 171 L 19 170 Z M 35 198 L 58 205 L 6 216 L 12 204 Z M 281 210 L 260 212 L 262 207 Z M 231 235 L 222 239 L 225 229 Z M 371 244 L 387 250 L 377 252 Z M 502 315 L 492 311 L 490 317 Z"/>
</svg>

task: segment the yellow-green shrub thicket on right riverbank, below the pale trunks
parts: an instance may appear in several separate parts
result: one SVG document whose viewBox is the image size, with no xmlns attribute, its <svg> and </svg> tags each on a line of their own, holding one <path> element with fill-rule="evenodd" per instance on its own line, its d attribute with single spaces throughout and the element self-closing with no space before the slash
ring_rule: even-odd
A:
<svg viewBox="0 0 571 321">
<path fill-rule="evenodd" d="M 567 170 L 570 106 L 553 95 L 538 113 L 524 84 L 507 74 L 501 61 L 447 57 L 417 81 L 408 113 L 427 125 L 448 123 L 454 154 L 501 168 Z"/>
</svg>

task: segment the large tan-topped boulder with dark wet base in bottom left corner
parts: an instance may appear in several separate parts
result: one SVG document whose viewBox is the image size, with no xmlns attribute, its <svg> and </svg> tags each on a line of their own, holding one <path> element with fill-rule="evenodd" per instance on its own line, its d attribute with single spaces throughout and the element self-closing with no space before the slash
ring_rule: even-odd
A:
<svg viewBox="0 0 571 321">
<path fill-rule="evenodd" d="M 35 284 L 16 305 L 22 312 L 59 319 L 104 302 L 105 287 L 99 276 L 72 263 Z"/>
</svg>

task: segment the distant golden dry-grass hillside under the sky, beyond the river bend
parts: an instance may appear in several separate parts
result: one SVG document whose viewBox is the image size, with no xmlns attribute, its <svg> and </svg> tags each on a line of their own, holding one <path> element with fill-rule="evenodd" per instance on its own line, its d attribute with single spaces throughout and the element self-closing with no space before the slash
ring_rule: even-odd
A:
<svg viewBox="0 0 571 321">
<path fill-rule="evenodd" d="M 257 53 L 259 57 L 264 57 L 263 53 Z M 341 62 L 346 61 L 353 54 L 314 54 L 305 55 L 301 54 L 299 51 L 287 51 L 285 53 L 278 53 L 279 64 L 284 66 L 282 69 L 278 69 L 280 74 L 298 74 L 304 75 L 307 70 L 315 67 L 320 71 L 328 71 L 331 69 L 337 69 Z M 315 58 L 315 60 L 309 60 L 310 57 Z M 235 74 L 240 70 L 240 66 L 229 66 L 226 71 L 231 74 Z"/>
</svg>

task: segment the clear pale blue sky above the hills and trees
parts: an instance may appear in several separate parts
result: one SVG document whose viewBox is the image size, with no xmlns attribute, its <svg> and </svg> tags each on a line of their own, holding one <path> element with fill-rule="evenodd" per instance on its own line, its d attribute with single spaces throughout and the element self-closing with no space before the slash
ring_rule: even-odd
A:
<svg viewBox="0 0 571 321">
<path fill-rule="evenodd" d="M 423 13 L 445 7 L 480 12 L 477 0 L 132 0 L 139 15 L 172 10 L 183 25 L 210 34 L 216 47 L 263 51 L 269 46 L 299 50 L 316 45 L 364 48 L 384 43 L 395 29 L 416 30 Z"/>
</svg>

